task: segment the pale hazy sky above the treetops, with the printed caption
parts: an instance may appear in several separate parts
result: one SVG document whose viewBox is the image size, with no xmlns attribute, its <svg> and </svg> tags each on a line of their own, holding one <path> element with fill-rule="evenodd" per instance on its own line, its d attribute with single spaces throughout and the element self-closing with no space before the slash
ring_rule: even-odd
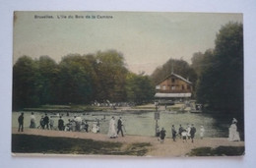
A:
<svg viewBox="0 0 256 168">
<path fill-rule="evenodd" d="M 84 55 L 114 49 L 123 54 L 130 71 L 151 75 L 170 58 L 191 63 L 193 53 L 214 48 L 216 34 L 228 22 L 242 23 L 243 16 L 231 13 L 16 12 L 13 63 L 23 55 L 32 58 L 48 55 L 59 62 L 71 53 Z"/>
</svg>

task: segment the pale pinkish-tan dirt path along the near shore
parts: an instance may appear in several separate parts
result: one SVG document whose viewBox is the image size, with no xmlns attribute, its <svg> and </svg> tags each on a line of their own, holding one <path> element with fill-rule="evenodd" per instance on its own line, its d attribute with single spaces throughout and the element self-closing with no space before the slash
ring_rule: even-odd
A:
<svg viewBox="0 0 256 168">
<path fill-rule="evenodd" d="M 113 141 L 123 142 L 125 144 L 133 142 L 150 142 L 152 147 L 147 153 L 148 156 L 185 156 L 191 149 L 197 147 L 217 147 L 220 145 L 224 146 L 244 146 L 244 141 L 229 141 L 226 138 L 206 138 L 204 140 L 196 139 L 194 143 L 190 140 L 182 142 L 177 139 L 165 139 L 163 143 L 160 143 L 155 137 L 142 137 L 142 136 L 125 136 L 118 137 L 117 139 L 109 139 L 106 135 L 94 134 L 94 133 L 80 133 L 80 132 L 60 132 L 60 131 L 48 131 L 48 130 L 37 130 L 37 129 L 26 129 L 24 132 L 17 132 L 17 129 L 12 130 L 13 134 L 26 134 L 36 136 L 47 136 L 47 137 L 63 137 L 63 138 L 74 138 L 74 139 L 92 139 L 102 141 Z"/>
</svg>

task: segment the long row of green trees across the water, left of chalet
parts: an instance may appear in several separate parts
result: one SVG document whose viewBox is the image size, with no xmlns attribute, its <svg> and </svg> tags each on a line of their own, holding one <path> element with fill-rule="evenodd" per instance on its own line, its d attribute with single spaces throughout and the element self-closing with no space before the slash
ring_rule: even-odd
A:
<svg viewBox="0 0 256 168">
<path fill-rule="evenodd" d="M 123 55 L 115 50 L 69 54 L 58 64 L 48 56 L 38 60 L 23 56 L 13 69 L 14 109 L 43 104 L 88 104 L 95 100 L 142 103 L 154 95 L 148 77 L 133 75 L 135 84 L 127 78 L 131 73 Z M 131 98 L 131 92 L 136 98 Z"/>
</svg>

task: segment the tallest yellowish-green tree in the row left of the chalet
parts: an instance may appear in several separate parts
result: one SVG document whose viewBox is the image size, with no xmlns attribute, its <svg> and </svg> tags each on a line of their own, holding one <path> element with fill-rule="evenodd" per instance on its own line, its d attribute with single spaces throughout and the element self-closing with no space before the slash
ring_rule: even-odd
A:
<svg viewBox="0 0 256 168">
<path fill-rule="evenodd" d="M 128 71 L 123 55 L 115 50 L 98 51 L 96 60 L 96 73 L 100 84 L 98 87 L 99 100 L 125 100 L 125 78 Z"/>
</svg>

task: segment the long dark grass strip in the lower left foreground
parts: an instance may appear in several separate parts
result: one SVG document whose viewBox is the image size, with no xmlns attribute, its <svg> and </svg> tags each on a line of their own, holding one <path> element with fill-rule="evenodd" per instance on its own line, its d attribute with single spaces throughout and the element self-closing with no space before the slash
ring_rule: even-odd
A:
<svg viewBox="0 0 256 168">
<path fill-rule="evenodd" d="M 124 146 L 121 142 L 12 135 L 12 152 L 44 154 L 98 154 L 144 156 L 150 143 L 138 142 Z"/>
</svg>

